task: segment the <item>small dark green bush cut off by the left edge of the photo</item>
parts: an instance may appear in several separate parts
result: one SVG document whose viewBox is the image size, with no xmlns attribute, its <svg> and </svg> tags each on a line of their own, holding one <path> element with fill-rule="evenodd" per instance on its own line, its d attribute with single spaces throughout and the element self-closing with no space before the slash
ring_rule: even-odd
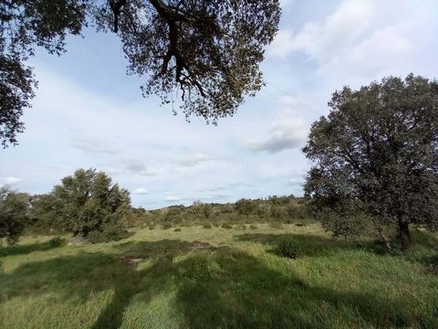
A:
<svg viewBox="0 0 438 329">
<path fill-rule="evenodd" d="M 0 187 L 0 239 L 15 244 L 26 227 L 29 196 L 17 193 L 7 186 Z"/>
</svg>

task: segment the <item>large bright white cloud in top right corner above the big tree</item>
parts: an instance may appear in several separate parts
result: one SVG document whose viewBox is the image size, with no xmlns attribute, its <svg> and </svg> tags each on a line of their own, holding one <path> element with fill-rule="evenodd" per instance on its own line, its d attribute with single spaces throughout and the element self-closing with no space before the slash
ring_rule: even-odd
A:
<svg viewBox="0 0 438 329">
<path fill-rule="evenodd" d="M 419 73 L 429 73 L 428 60 L 419 58 L 429 58 L 436 49 L 437 13 L 436 1 L 343 0 L 322 19 L 279 31 L 268 55 L 303 54 L 317 64 L 319 77 L 336 88 L 420 67 Z"/>
</svg>

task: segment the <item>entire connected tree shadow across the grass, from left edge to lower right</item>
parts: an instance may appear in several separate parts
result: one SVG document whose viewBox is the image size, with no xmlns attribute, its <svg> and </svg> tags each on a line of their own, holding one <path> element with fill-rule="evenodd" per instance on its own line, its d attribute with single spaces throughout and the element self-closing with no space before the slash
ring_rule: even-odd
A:
<svg viewBox="0 0 438 329">
<path fill-rule="evenodd" d="M 0 275 L 0 293 L 4 301 L 44 292 L 86 301 L 90 292 L 113 289 L 112 301 L 92 328 L 119 328 L 134 297 L 150 302 L 172 286 L 175 314 L 182 314 L 181 326 L 187 328 L 393 327 L 433 321 L 408 318 L 399 301 L 309 286 L 293 271 L 276 271 L 236 249 L 181 240 L 119 247 L 115 254 L 83 253 L 27 263 Z M 151 266 L 139 270 L 127 262 L 132 259 L 151 260 Z"/>
</svg>

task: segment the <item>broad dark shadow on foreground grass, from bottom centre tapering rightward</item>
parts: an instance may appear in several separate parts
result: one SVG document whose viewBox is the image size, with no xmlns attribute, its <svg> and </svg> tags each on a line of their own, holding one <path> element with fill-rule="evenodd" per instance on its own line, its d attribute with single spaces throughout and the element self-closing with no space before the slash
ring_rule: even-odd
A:
<svg viewBox="0 0 438 329">
<path fill-rule="evenodd" d="M 153 271 L 153 269 L 151 269 Z M 223 248 L 173 264 L 175 305 L 187 327 L 326 328 L 351 323 L 404 326 L 395 302 L 366 293 L 309 286 L 242 251 Z M 336 319 L 334 318 L 336 317 Z"/>
</svg>

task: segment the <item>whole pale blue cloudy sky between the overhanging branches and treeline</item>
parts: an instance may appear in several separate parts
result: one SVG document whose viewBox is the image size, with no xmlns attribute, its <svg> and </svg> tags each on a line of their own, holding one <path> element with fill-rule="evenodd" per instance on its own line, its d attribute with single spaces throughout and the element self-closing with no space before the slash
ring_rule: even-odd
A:
<svg viewBox="0 0 438 329">
<path fill-rule="evenodd" d="M 312 122 L 343 86 L 413 72 L 438 78 L 438 1 L 285 0 L 266 48 L 266 86 L 217 126 L 141 97 L 120 41 L 87 30 L 61 57 L 37 51 L 39 87 L 19 144 L 0 151 L 0 185 L 50 192 L 78 168 L 105 171 L 132 205 L 303 195 Z M 176 110 L 176 109 L 175 109 Z"/>
</svg>

